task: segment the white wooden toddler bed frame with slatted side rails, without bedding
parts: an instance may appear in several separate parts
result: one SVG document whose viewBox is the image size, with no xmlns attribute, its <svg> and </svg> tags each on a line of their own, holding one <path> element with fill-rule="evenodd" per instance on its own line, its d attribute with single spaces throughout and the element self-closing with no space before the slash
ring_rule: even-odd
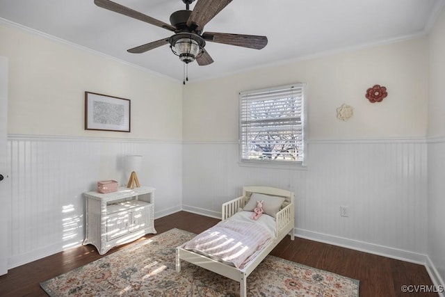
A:
<svg viewBox="0 0 445 297">
<path fill-rule="evenodd" d="M 270 188 L 266 186 L 245 186 L 243 187 L 243 195 L 234 200 L 230 200 L 223 204 L 222 207 L 222 220 L 227 220 L 236 212 L 238 208 L 242 208 L 250 199 L 252 193 L 261 193 L 266 195 L 280 196 L 285 198 L 285 203 L 287 204 L 283 209 L 277 212 L 275 216 L 276 228 L 275 228 L 275 238 L 273 238 L 267 246 L 261 249 L 254 258 L 252 258 L 248 264 L 246 264 L 242 269 L 236 268 L 225 264 L 223 262 L 218 262 L 214 259 L 200 255 L 197 252 L 191 250 L 185 250 L 184 248 L 177 247 L 176 250 L 176 271 L 179 273 L 181 271 L 181 260 L 190 262 L 202 268 L 206 268 L 209 271 L 218 273 L 236 280 L 240 283 L 240 295 L 245 297 L 247 295 L 247 284 L 246 279 L 254 271 L 255 268 L 261 263 L 261 261 L 266 258 L 266 256 L 277 246 L 286 234 L 291 235 L 291 240 L 294 239 L 293 228 L 295 226 L 295 209 L 294 209 L 294 195 L 290 191 L 282 190 L 280 188 Z"/>
</svg>

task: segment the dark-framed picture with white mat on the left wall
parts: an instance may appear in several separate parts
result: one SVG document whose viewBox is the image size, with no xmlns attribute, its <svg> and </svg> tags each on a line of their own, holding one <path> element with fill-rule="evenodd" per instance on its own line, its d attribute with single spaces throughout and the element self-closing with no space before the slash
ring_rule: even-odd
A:
<svg viewBox="0 0 445 297">
<path fill-rule="evenodd" d="M 130 100 L 85 92 L 85 129 L 130 131 Z"/>
</svg>

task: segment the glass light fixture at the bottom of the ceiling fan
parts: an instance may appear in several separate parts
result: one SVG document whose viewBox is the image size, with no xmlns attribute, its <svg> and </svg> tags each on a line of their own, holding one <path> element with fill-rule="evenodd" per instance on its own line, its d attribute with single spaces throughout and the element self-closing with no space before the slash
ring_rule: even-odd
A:
<svg viewBox="0 0 445 297">
<path fill-rule="evenodd" d="M 173 54 L 179 56 L 179 59 L 188 64 L 195 61 L 195 58 L 204 52 L 204 40 L 193 33 L 178 33 L 173 35 L 170 40 L 170 48 Z"/>
</svg>

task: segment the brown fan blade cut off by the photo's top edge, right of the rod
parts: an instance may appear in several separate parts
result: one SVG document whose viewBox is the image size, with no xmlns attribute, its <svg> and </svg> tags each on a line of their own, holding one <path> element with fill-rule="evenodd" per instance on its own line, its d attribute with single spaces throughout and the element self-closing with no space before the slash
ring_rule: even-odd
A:
<svg viewBox="0 0 445 297">
<path fill-rule="evenodd" d="M 187 26 L 197 24 L 197 30 L 202 30 L 230 2 L 232 0 L 197 0 L 195 8 L 193 8 L 190 17 L 188 17 Z"/>
</svg>

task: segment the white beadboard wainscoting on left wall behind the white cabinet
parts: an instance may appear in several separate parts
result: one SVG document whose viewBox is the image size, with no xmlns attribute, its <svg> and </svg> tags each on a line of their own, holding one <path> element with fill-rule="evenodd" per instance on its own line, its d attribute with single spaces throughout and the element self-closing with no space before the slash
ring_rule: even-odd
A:
<svg viewBox="0 0 445 297">
<path fill-rule="evenodd" d="M 127 154 L 143 155 L 141 184 L 154 186 L 155 217 L 181 209 L 181 142 L 9 135 L 8 268 L 84 239 L 84 198 L 99 180 L 124 184 Z"/>
</svg>

